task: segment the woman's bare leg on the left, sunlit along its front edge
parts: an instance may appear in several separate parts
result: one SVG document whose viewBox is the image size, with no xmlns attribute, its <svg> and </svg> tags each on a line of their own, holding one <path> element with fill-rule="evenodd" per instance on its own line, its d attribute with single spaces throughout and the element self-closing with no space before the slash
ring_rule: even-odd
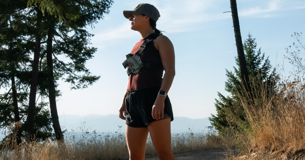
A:
<svg viewBox="0 0 305 160">
<path fill-rule="evenodd" d="M 126 125 L 126 141 L 130 160 L 144 160 L 148 129 Z"/>
</svg>

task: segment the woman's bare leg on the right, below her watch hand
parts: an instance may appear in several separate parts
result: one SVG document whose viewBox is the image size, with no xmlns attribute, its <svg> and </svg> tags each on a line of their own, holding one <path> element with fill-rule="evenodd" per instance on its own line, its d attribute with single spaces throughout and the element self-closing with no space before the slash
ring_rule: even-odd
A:
<svg viewBox="0 0 305 160">
<path fill-rule="evenodd" d="M 175 160 L 171 150 L 170 118 L 153 121 L 147 125 L 152 144 L 160 160 Z"/>
</svg>

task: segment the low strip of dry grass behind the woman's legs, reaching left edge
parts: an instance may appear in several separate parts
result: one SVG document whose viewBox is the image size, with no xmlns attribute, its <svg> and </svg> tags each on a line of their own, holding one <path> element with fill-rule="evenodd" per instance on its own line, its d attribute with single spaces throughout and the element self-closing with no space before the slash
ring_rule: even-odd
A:
<svg viewBox="0 0 305 160">
<path fill-rule="evenodd" d="M 172 134 L 172 150 L 190 151 L 202 148 L 223 147 L 234 144 L 234 138 L 215 135 L 213 128 L 208 133 L 193 133 L 192 130 L 180 134 Z M 4 147 L 0 150 L 2 160 L 49 160 L 49 159 L 73 159 L 73 160 L 100 160 L 129 158 L 125 134 L 98 135 L 97 133 L 83 132 L 81 134 L 69 133 L 65 137 L 65 143 L 47 140 L 33 143 L 23 143 L 19 147 L 11 149 Z M 9 141 L 9 140 L 8 140 Z M 155 154 L 150 137 L 146 144 L 146 154 Z"/>
</svg>

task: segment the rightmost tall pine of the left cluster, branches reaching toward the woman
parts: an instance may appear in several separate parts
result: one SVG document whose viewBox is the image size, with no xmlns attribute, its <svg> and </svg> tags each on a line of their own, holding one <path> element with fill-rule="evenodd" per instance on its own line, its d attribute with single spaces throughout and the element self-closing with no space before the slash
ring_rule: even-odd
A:
<svg viewBox="0 0 305 160">
<path fill-rule="evenodd" d="M 66 82 L 72 84 L 72 89 L 86 88 L 99 79 L 100 76 L 91 76 L 89 70 L 85 67 L 88 59 L 93 58 L 96 48 L 88 47 L 89 38 L 93 36 L 84 28 L 86 25 L 96 23 L 103 14 L 109 13 L 109 7 L 112 1 L 100 1 L 96 3 L 85 3 L 87 6 L 74 4 L 79 18 L 73 20 L 60 21 L 51 14 L 47 18 L 47 46 L 46 46 L 46 64 L 48 73 L 48 96 L 52 116 L 53 127 L 56 139 L 61 140 L 62 133 L 60 130 L 57 109 L 56 109 L 56 81 L 68 74 Z M 71 8 L 71 6 L 70 6 Z M 69 34 L 73 33 L 72 36 Z M 52 45 L 54 41 L 54 45 Z M 72 62 L 65 63 L 57 59 L 58 55 L 69 57 Z M 54 60 L 53 60 L 54 57 Z M 53 63 L 54 61 L 54 63 Z M 54 66 L 53 66 L 54 64 Z M 83 73 L 79 75 L 77 73 Z M 57 131 L 57 133 L 56 133 Z"/>
</svg>

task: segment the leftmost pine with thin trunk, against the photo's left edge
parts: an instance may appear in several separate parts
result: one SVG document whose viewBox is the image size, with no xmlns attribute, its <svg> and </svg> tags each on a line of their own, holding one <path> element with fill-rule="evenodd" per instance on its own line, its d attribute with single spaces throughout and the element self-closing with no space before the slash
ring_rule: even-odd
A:
<svg viewBox="0 0 305 160">
<path fill-rule="evenodd" d="M 7 92 L 2 95 L 0 104 L 1 120 L 0 126 L 7 126 L 9 122 L 14 122 L 14 134 L 17 144 L 21 143 L 22 128 L 20 128 L 20 112 L 17 101 L 17 87 L 15 76 L 21 75 L 20 69 L 23 67 L 22 63 L 29 62 L 29 57 L 24 54 L 30 50 L 30 45 L 24 42 L 24 24 L 17 23 L 25 17 L 20 12 L 20 8 L 26 6 L 24 2 L 18 2 L 11 5 L 9 1 L 2 1 L 0 14 L 0 75 L 1 87 L 10 87 L 12 93 Z M 9 84 L 11 82 L 11 84 Z M 11 114 L 11 112 L 13 114 Z M 12 117 L 11 115 L 14 115 Z"/>
</svg>

